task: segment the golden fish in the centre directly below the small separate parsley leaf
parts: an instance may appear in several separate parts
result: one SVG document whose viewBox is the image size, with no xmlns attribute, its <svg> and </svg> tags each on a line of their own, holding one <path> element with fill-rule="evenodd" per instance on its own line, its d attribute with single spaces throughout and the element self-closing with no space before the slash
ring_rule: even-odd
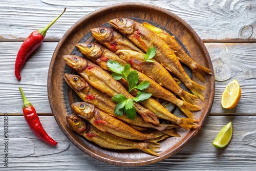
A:
<svg viewBox="0 0 256 171">
<path fill-rule="evenodd" d="M 184 91 L 176 83 L 169 72 L 155 59 L 152 59 L 154 62 L 145 62 L 144 53 L 135 52 L 132 50 L 118 50 L 116 54 L 119 55 L 121 59 L 128 62 L 132 68 L 152 78 L 160 85 L 174 92 L 186 102 L 194 104 L 195 101 L 198 101 L 197 96 Z"/>
</svg>

